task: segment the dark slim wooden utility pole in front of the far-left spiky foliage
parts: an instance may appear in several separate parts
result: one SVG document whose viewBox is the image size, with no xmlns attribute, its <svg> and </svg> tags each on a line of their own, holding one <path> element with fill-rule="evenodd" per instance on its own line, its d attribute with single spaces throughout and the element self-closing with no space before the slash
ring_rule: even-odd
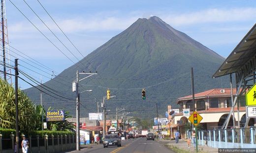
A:
<svg viewBox="0 0 256 153">
<path fill-rule="evenodd" d="M 18 59 L 15 59 L 15 129 L 16 129 L 16 151 L 19 153 L 19 108 L 18 108 Z"/>
</svg>

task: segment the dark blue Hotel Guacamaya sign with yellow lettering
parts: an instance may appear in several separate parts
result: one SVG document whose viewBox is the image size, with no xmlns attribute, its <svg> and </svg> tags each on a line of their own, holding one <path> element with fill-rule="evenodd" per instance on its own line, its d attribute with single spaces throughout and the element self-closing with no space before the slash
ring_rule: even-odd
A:
<svg viewBox="0 0 256 153">
<path fill-rule="evenodd" d="M 49 121 L 65 121 L 64 110 L 46 111 L 46 122 L 49 122 Z"/>
</svg>

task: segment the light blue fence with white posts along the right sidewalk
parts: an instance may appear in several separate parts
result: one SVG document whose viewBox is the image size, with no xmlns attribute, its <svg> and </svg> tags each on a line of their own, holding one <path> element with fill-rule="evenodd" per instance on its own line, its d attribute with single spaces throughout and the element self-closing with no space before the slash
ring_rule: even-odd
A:
<svg viewBox="0 0 256 153">
<path fill-rule="evenodd" d="M 187 137 L 192 137 L 191 131 L 187 131 Z M 256 148 L 256 127 L 201 130 L 197 140 L 198 145 L 213 148 Z"/>
</svg>

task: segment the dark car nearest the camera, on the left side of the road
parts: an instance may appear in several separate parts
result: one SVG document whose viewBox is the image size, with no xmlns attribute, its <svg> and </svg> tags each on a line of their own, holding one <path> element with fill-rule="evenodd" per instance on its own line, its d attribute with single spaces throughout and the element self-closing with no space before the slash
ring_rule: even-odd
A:
<svg viewBox="0 0 256 153">
<path fill-rule="evenodd" d="M 121 138 L 117 134 L 108 134 L 105 136 L 105 139 L 103 140 L 103 146 L 104 148 L 108 146 L 117 146 L 121 147 Z"/>
</svg>

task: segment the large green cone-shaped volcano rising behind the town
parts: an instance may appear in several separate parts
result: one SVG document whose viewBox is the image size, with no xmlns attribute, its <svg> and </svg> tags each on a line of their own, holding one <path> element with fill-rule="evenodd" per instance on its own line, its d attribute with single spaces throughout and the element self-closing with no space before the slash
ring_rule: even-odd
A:
<svg viewBox="0 0 256 153">
<path fill-rule="evenodd" d="M 96 111 L 96 101 L 102 101 L 106 89 L 110 88 L 111 94 L 117 95 L 107 101 L 112 113 L 116 107 L 125 107 L 134 116 L 153 117 L 155 113 L 151 111 L 155 110 L 156 102 L 159 103 L 160 113 L 164 113 L 168 104 L 178 107 L 176 99 L 191 94 L 191 67 L 194 68 L 195 92 L 222 85 L 226 87 L 227 84 L 222 84 L 224 80 L 211 78 L 223 61 L 224 58 L 218 53 L 169 26 L 159 17 L 143 18 L 44 84 L 75 98 L 71 83 L 76 71 L 97 71 L 98 75 L 80 83 L 80 92 L 93 90 L 92 93 L 81 94 L 81 103 L 86 107 L 82 115 L 88 116 L 88 112 Z M 146 100 L 141 99 L 144 87 L 148 87 Z M 39 91 L 29 88 L 25 92 L 34 102 L 39 102 Z M 74 102 L 59 102 L 45 94 L 43 100 L 46 107 L 55 105 L 74 113 Z"/>
</svg>

